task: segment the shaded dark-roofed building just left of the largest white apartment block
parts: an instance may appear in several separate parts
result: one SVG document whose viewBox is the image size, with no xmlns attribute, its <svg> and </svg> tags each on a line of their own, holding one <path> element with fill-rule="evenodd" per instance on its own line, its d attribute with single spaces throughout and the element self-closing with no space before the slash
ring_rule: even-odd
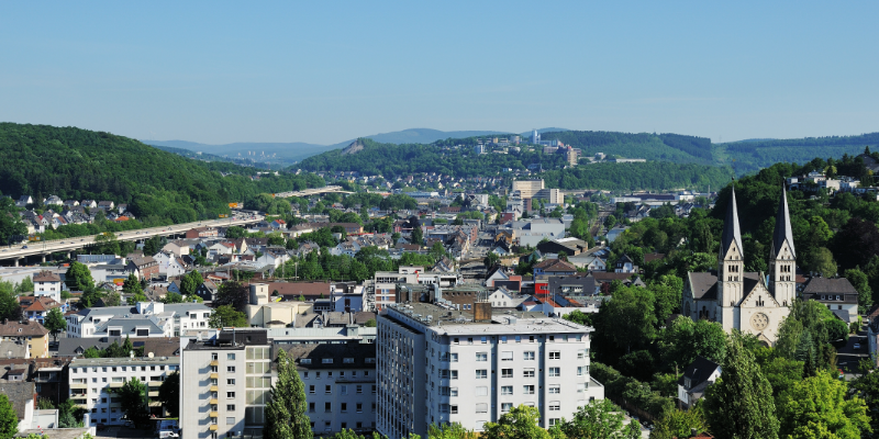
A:
<svg viewBox="0 0 879 439">
<path fill-rule="evenodd" d="M 305 384 L 311 429 L 332 435 L 376 429 L 376 346 L 346 344 L 275 345 L 296 361 Z"/>
</svg>

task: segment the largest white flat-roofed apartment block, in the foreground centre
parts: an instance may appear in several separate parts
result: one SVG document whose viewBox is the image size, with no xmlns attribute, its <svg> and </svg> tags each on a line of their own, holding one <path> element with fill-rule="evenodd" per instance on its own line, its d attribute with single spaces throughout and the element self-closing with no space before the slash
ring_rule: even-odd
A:
<svg viewBox="0 0 879 439">
<path fill-rule="evenodd" d="M 604 397 L 589 374 L 592 328 L 542 314 L 491 316 L 448 304 L 392 304 L 378 319 L 379 434 L 427 435 L 431 424 L 482 431 L 521 404 L 544 428 Z"/>
</svg>

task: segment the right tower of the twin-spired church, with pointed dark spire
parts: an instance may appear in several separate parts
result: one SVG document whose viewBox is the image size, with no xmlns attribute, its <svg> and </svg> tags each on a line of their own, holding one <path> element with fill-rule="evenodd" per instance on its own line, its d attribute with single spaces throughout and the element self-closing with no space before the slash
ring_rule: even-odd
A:
<svg viewBox="0 0 879 439">
<path fill-rule="evenodd" d="M 790 228 L 788 192 L 781 183 L 781 202 L 776 214 L 776 229 L 769 248 L 769 292 L 781 306 L 790 306 L 797 294 L 797 252 Z"/>
</svg>

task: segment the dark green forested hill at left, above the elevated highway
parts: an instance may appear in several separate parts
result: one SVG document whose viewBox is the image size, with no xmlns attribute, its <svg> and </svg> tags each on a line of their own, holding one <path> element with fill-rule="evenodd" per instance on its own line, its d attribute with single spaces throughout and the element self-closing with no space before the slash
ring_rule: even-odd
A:
<svg viewBox="0 0 879 439">
<path fill-rule="evenodd" d="M 226 173 L 223 177 L 223 173 Z M 0 123 L 0 193 L 35 200 L 112 200 L 138 219 L 216 217 L 230 202 L 260 192 L 323 185 L 314 175 L 264 176 L 255 168 L 204 162 L 141 142 L 75 127 Z"/>
</svg>

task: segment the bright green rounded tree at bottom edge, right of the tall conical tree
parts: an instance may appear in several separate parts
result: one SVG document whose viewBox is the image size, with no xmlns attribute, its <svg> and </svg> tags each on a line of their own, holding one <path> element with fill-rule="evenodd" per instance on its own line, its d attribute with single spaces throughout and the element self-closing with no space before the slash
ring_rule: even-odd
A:
<svg viewBox="0 0 879 439">
<path fill-rule="evenodd" d="M 779 396 L 781 435 L 859 439 L 861 432 L 870 431 L 867 404 L 858 396 L 846 398 L 846 384 L 827 372 L 794 383 Z"/>
</svg>

